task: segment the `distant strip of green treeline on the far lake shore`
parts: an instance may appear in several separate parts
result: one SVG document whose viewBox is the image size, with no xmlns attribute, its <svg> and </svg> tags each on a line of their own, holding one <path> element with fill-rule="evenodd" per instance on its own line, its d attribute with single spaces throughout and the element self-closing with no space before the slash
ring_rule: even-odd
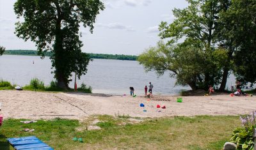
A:
<svg viewBox="0 0 256 150">
<path fill-rule="evenodd" d="M 4 52 L 6 55 L 22 55 L 22 56 L 38 56 L 36 50 L 6 50 Z M 45 52 L 45 56 L 51 56 L 51 52 Z M 113 55 L 113 54 L 92 54 L 88 53 L 90 58 L 95 59 L 118 59 L 118 60 L 128 60 L 128 61 L 136 61 L 137 56 L 129 56 L 129 55 Z"/>
</svg>

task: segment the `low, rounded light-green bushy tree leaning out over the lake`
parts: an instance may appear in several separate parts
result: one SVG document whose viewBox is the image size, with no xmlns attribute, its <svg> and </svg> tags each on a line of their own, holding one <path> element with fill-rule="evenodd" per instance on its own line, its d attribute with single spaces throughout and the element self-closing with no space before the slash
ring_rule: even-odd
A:
<svg viewBox="0 0 256 150">
<path fill-rule="evenodd" d="M 156 47 L 150 47 L 138 57 L 146 71 L 156 71 L 158 76 L 170 71 L 170 77 L 176 77 L 176 85 L 190 86 L 196 90 L 200 86 L 198 75 L 204 70 L 204 52 L 193 46 L 166 45 L 159 41 Z M 193 63 L 191 63 L 193 62 Z"/>
</svg>

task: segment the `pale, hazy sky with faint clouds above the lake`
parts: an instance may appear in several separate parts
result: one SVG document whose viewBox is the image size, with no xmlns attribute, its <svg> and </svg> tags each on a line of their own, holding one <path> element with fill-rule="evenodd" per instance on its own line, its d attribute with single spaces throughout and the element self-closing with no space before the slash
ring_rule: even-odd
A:
<svg viewBox="0 0 256 150">
<path fill-rule="evenodd" d="M 83 52 L 98 54 L 141 54 L 160 40 L 161 21 L 171 23 L 173 8 L 188 6 L 186 0 L 102 0 L 105 10 L 100 11 L 93 34 L 80 28 Z M 35 43 L 24 41 L 15 34 L 13 11 L 15 0 L 0 0 L 0 45 L 6 50 L 36 50 Z"/>
</svg>

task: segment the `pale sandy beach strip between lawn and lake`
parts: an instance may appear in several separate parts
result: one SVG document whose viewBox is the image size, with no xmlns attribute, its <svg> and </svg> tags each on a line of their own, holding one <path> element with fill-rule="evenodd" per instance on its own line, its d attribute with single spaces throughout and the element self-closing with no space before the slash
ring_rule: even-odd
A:
<svg viewBox="0 0 256 150">
<path fill-rule="evenodd" d="M 108 94 L 47 93 L 34 91 L 0 91 L 1 111 L 4 119 L 86 119 L 92 115 L 128 115 L 131 117 L 239 115 L 256 110 L 256 96 L 111 96 Z M 140 107 L 145 104 L 145 110 Z M 166 106 L 157 109 L 156 105 Z"/>
</svg>

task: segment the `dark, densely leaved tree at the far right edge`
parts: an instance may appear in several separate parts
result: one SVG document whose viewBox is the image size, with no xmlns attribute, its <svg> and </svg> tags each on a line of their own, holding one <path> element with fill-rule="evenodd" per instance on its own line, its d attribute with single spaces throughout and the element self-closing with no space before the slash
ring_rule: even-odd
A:
<svg viewBox="0 0 256 150">
<path fill-rule="evenodd" d="M 230 43 L 234 56 L 233 71 L 243 82 L 256 82 L 256 2 L 232 0 L 227 11 L 221 12 L 223 41 Z M 232 46 L 231 46 L 232 45 Z"/>
</svg>

